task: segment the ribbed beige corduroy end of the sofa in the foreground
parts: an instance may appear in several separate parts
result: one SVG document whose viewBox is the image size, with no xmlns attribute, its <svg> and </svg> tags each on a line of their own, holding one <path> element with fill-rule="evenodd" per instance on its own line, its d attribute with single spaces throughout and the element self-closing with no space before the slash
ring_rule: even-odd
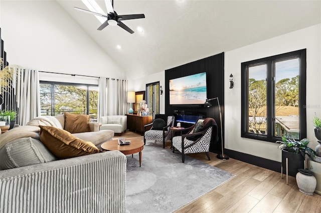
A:
<svg viewBox="0 0 321 213">
<path fill-rule="evenodd" d="M 4 212 L 125 212 L 126 156 L 106 151 L 0 170 Z"/>
</svg>

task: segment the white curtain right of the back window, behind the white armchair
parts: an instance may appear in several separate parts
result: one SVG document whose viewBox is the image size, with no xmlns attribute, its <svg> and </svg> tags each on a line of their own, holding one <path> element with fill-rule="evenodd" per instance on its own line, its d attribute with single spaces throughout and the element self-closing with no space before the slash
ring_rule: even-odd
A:
<svg viewBox="0 0 321 213">
<path fill-rule="evenodd" d="M 100 77 L 98 116 L 126 113 L 127 80 Z"/>
</svg>

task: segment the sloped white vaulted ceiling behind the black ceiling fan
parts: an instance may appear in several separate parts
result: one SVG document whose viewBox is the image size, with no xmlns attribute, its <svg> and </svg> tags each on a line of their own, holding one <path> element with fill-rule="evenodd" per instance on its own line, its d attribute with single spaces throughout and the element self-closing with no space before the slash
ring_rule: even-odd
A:
<svg viewBox="0 0 321 213">
<path fill-rule="evenodd" d="M 57 2 L 133 79 L 321 22 L 319 0 L 114 0 L 118 14 L 145 14 L 123 21 L 130 34 L 97 30 L 94 15 L 74 9 L 88 9 L 81 0 Z"/>
</svg>

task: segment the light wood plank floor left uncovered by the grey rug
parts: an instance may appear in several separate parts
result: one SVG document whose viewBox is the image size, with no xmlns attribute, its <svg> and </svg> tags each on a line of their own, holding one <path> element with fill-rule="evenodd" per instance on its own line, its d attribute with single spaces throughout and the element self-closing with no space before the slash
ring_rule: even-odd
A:
<svg viewBox="0 0 321 213">
<path fill-rule="evenodd" d="M 121 136 L 128 138 L 143 137 L 135 132 L 126 131 Z M 119 135 L 114 137 L 117 138 Z M 170 148 L 170 141 L 167 147 Z M 143 151 L 142 151 L 143 154 Z M 306 195 L 298 190 L 295 177 L 258 167 L 236 159 L 221 160 L 210 153 L 189 154 L 205 163 L 221 168 L 235 175 L 234 178 L 209 191 L 200 198 L 176 210 L 182 212 L 321 212 L 321 195 Z"/>
</svg>

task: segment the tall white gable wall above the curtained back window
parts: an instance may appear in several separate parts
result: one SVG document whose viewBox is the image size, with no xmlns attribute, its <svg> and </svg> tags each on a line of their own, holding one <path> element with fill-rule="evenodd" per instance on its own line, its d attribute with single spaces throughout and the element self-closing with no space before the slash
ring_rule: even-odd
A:
<svg viewBox="0 0 321 213">
<path fill-rule="evenodd" d="M 2 38 L 11 64 L 50 72 L 125 78 L 121 68 L 56 1 L 1 0 L 0 4 Z M 81 77 L 53 78 L 44 73 L 40 78 L 84 81 Z M 87 83 L 95 82 L 96 78 L 90 78 Z"/>
</svg>

